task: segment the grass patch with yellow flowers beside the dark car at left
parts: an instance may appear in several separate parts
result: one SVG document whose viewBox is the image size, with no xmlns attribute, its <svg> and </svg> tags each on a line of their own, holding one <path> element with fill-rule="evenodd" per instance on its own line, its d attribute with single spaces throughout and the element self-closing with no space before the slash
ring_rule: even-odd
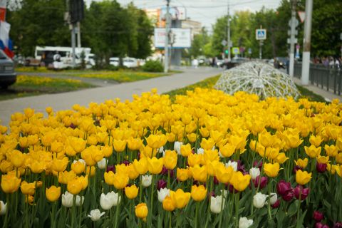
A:
<svg viewBox="0 0 342 228">
<path fill-rule="evenodd" d="M 93 86 L 80 80 L 19 75 L 16 83 L 10 86 L 8 90 L 0 90 L 0 100 L 43 93 L 63 93 L 91 87 Z"/>
</svg>

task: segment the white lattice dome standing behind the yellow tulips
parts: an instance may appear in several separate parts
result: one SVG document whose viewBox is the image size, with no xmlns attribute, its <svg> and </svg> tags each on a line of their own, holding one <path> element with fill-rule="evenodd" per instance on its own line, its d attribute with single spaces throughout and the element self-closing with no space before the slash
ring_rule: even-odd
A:
<svg viewBox="0 0 342 228">
<path fill-rule="evenodd" d="M 242 63 L 224 71 L 214 88 L 229 94 L 237 91 L 256 93 L 260 98 L 299 96 L 289 75 L 261 61 Z"/>
</svg>

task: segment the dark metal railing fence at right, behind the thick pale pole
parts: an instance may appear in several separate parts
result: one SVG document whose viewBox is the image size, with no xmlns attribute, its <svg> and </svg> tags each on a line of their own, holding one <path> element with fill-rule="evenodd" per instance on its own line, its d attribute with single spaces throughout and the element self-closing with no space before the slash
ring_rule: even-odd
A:
<svg viewBox="0 0 342 228">
<path fill-rule="evenodd" d="M 342 71 L 341 68 L 327 68 L 323 65 L 310 65 L 309 81 L 335 94 L 342 92 Z M 301 78 L 301 63 L 294 64 L 294 77 Z"/>
</svg>

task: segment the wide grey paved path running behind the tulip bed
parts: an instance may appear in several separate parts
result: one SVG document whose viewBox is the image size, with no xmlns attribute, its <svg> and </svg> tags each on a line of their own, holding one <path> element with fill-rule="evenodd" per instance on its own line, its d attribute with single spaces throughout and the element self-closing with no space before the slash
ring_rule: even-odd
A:
<svg viewBox="0 0 342 228">
<path fill-rule="evenodd" d="M 205 78 L 222 73 L 220 68 L 182 68 L 183 73 L 172 76 L 152 78 L 132 83 L 120 83 L 111 86 L 89 88 L 68 93 L 37 95 L 26 98 L 0 101 L 1 125 L 8 125 L 11 114 L 23 112 L 24 108 L 34 108 L 37 112 L 45 113 L 45 108 L 51 106 L 53 110 L 70 109 L 72 105 L 88 105 L 90 102 L 102 103 L 105 100 L 120 98 L 131 99 L 133 94 L 139 94 L 152 88 L 158 93 L 165 93 L 176 88 L 192 85 Z"/>
</svg>

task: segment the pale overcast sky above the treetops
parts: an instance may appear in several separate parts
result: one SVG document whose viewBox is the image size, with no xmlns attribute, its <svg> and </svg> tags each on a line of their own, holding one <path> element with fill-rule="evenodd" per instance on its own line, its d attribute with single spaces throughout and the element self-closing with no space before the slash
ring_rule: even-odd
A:
<svg viewBox="0 0 342 228">
<path fill-rule="evenodd" d="M 91 1 L 85 0 L 88 6 Z M 123 6 L 133 2 L 140 9 L 157 9 L 166 5 L 166 0 L 117 0 Z M 276 9 L 281 0 L 170 0 L 170 6 L 185 7 L 187 17 L 199 21 L 207 30 L 212 30 L 212 24 L 217 18 L 227 15 L 229 2 L 231 14 L 234 11 L 249 10 L 258 11 L 265 6 L 267 9 Z"/>
</svg>

